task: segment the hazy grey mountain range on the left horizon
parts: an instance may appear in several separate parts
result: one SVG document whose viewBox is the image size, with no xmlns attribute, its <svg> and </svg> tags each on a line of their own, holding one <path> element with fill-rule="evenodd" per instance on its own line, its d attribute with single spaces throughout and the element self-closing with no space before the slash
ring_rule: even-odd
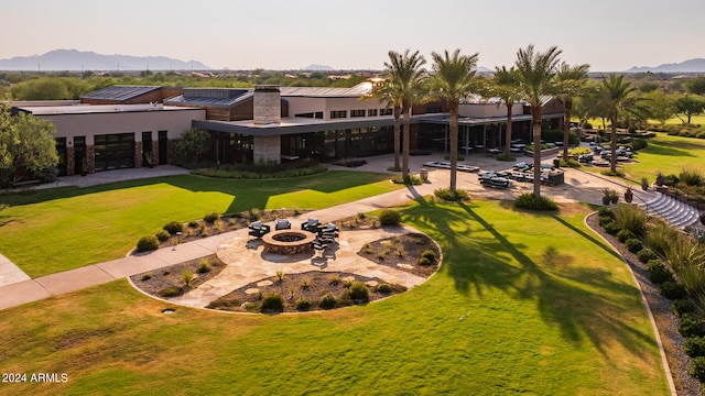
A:
<svg viewBox="0 0 705 396">
<path fill-rule="evenodd" d="M 102 55 L 77 50 L 54 50 L 43 55 L 0 59 L 0 70 L 208 70 L 197 61 L 165 56 Z"/>
</svg>

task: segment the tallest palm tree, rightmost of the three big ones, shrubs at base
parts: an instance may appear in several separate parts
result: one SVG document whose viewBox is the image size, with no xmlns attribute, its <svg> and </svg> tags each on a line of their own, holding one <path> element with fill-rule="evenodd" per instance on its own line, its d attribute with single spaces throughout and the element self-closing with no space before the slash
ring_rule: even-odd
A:
<svg viewBox="0 0 705 396">
<path fill-rule="evenodd" d="M 545 53 L 534 52 L 533 45 L 517 52 L 517 80 L 523 99 L 531 106 L 533 129 L 533 195 L 541 197 L 541 121 L 543 100 L 557 94 L 555 75 L 561 51 L 556 46 Z"/>
</svg>

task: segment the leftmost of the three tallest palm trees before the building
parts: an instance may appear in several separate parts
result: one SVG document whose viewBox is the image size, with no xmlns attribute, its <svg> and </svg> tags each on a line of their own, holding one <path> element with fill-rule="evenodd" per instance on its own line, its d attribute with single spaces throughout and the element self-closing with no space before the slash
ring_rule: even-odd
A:
<svg viewBox="0 0 705 396">
<path fill-rule="evenodd" d="M 389 76 L 391 85 L 398 95 L 394 103 L 401 105 L 404 117 L 404 136 L 402 139 L 402 169 L 404 180 L 409 179 L 409 140 L 411 139 L 411 108 L 424 98 L 425 72 L 421 68 L 426 63 L 419 51 L 403 54 L 395 51 L 389 52 L 389 63 L 384 63 L 384 73 Z"/>
</svg>

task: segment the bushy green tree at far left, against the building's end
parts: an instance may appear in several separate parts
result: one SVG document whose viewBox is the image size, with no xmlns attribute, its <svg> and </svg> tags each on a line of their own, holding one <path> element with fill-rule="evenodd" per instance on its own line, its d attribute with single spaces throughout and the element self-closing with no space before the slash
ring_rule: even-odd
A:
<svg viewBox="0 0 705 396">
<path fill-rule="evenodd" d="M 56 166 L 54 131 L 48 120 L 25 112 L 11 116 L 7 108 L 0 109 L 0 184 L 30 179 Z"/>
</svg>

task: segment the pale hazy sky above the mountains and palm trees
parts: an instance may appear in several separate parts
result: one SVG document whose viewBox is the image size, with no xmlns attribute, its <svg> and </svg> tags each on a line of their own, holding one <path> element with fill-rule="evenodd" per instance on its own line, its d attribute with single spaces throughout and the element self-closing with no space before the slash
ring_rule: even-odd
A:
<svg viewBox="0 0 705 396">
<path fill-rule="evenodd" d="M 460 48 L 494 68 L 534 44 L 619 72 L 705 57 L 703 15 L 705 0 L 22 0 L 2 7 L 0 58 L 75 48 L 215 69 L 381 69 L 390 50 Z"/>
</svg>

